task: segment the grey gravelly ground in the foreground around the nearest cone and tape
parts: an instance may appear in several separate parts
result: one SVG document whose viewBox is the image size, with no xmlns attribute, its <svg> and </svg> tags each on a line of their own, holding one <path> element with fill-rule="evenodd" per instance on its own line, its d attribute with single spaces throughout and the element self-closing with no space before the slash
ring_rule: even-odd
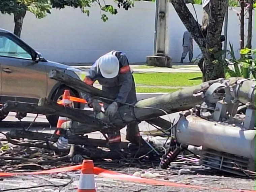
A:
<svg viewBox="0 0 256 192">
<path fill-rule="evenodd" d="M 185 165 L 185 164 L 173 164 L 170 169 L 163 170 L 159 168 L 150 168 L 147 170 L 139 168 L 120 168 L 116 169 L 117 172 L 127 174 L 141 174 L 145 177 L 151 177 L 150 179 L 157 179 L 161 181 L 168 181 L 172 183 L 185 184 L 188 188 L 162 186 L 162 185 L 146 185 L 140 183 L 131 183 L 126 181 L 118 181 L 109 178 L 103 178 L 95 175 L 95 181 L 97 183 L 98 192 L 199 192 L 199 191 L 219 191 L 224 192 L 223 189 L 211 189 L 211 188 L 228 188 L 228 189 L 246 189 L 255 190 L 255 180 L 236 178 L 233 175 L 226 175 L 226 173 L 218 172 L 210 168 L 205 168 L 199 165 Z M 145 174 L 146 172 L 146 174 Z M 66 174 L 49 174 L 49 175 L 36 175 L 36 176 L 15 176 L 15 177 L 2 177 L 0 178 L 0 191 L 11 190 L 15 192 L 75 192 L 75 187 L 78 185 L 79 171 L 68 172 L 68 175 L 72 178 L 72 182 L 66 187 L 52 187 L 44 186 L 34 189 L 14 189 L 24 188 L 40 185 L 62 185 L 70 182 Z M 153 177 L 153 176 L 154 177 Z M 152 178 L 153 177 L 153 178 Z M 189 188 L 189 185 L 206 187 L 206 189 Z"/>
</svg>

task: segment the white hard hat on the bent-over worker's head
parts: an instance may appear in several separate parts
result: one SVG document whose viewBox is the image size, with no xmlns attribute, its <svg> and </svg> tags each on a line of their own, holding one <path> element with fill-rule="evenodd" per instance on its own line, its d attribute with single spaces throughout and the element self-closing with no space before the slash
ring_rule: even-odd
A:
<svg viewBox="0 0 256 192">
<path fill-rule="evenodd" d="M 119 60 L 115 55 L 106 54 L 98 59 L 100 72 L 105 78 L 114 78 L 119 72 Z"/>
</svg>

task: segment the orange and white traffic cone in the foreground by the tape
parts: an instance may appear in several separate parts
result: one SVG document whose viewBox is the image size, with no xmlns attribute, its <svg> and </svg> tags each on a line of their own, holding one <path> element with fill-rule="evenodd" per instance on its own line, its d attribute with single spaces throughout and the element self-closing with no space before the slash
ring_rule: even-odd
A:
<svg viewBox="0 0 256 192">
<path fill-rule="evenodd" d="M 83 161 L 77 192 L 96 192 L 93 167 L 92 160 Z"/>
</svg>

